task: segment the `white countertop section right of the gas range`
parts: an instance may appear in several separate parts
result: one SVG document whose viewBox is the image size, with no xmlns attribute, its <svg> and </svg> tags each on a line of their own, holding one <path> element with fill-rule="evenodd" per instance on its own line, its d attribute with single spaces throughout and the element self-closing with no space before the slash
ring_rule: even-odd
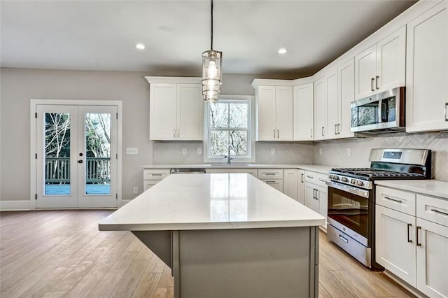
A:
<svg viewBox="0 0 448 298">
<path fill-rule="evenodd" d="M 394 187 L 448 199 L 448 182 L 441 180 L 376 180 L 376 185 Z"/>
</svg>

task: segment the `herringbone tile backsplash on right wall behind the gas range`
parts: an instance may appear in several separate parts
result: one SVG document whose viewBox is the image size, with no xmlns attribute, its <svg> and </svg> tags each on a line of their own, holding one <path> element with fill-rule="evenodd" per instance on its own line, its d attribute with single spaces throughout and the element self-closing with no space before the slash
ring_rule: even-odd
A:
<svg viewBox="0 0 448 298">
<path fill-rule="evenodd" d="M 322 148 L 322 155 L 319 155 Z M 347 156 L 347 148 L 351 156 Z M 448 132 L 381 134 L 369 138 L 322 141 L 314 144 L 314 163 L 331 166 L 370 166 L 371 148 L 421 148 L 433 151 L 433 178 L 448 181 Z"/>
</svg>

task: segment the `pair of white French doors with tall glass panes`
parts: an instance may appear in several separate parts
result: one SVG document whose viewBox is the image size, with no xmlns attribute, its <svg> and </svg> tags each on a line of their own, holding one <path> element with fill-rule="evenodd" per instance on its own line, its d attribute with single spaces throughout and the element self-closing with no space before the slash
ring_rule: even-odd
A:
<svg viewBox="0 0 448 298">
<path fill-rule="evenodd" d="M 36 208 L 117 207 L 117 106 L 36 106 Z"/>
</svg>

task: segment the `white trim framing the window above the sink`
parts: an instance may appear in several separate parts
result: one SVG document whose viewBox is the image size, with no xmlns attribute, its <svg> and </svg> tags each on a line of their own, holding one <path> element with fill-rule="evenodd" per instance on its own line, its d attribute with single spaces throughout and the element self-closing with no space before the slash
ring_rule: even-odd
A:
<svg viewBox="0 0 448 298">
<path fill-rule="evenodd" d="M 249 138 L 248 143 L 249 152 L 251 152 L 251 157 L 232 157 L 232 164 L 241 164 L 248 162 L 255 162 L 255 97 L 251 95 L 220 95 L 219 99 L 228 101 L 249 101 Z M 225 157 L 209 157 L 209 104 L 204 104 L 204 162 L 212 163 L 224 163 L 227 162 Z"/>
</svg>

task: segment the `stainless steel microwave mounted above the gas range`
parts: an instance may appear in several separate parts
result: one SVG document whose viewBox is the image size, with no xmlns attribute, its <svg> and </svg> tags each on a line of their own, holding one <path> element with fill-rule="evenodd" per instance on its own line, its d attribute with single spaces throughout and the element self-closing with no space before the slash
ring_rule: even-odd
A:
<svg viewBox="0 0 448 298">
<path fill-rule="evenodd" d="M 405 129 L 405 87 L 397 87 L 351 103 L 351 132 Z"/>
</svg>

